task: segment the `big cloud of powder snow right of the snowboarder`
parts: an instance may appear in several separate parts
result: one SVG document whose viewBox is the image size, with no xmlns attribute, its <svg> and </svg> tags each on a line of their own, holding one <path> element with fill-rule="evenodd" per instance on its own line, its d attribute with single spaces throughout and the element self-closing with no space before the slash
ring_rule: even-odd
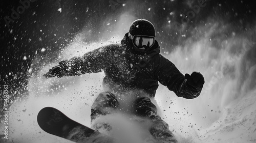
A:
<svg viewBox="0 0 256 143">
<path fill-rule="evenodd" d="M 187 100 L 160 87 L 163 117 L 181 142 L 255 142 L 256 28 L 207 22 L 191 35 L 166 56 L 183 74 L 201 72 L 203 91 Z"/>
</svg>

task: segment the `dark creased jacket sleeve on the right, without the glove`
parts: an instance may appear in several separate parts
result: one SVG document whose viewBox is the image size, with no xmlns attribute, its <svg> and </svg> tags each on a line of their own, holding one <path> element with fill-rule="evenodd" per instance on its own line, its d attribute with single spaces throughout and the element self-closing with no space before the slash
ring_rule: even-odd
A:
<svg viewBox="0 0 256 143">
<path fill-rule="evenodd" d="M 168 59 L 159 55 L 156 60 L 155 77 L 170 91 L 175 92 L 178 97 L 193 99 L 200 95 L 202 87 L 192 87 L 185 79 L 185 76 Z"/>
</svg>

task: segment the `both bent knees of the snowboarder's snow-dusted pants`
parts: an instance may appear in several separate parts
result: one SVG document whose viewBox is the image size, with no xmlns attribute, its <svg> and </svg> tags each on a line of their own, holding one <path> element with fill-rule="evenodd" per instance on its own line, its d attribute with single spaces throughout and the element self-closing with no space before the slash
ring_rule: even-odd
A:
<svg viewBox="0 0 256 143">
<path fill-rule="evenodd" d="M 161 120 L 157 115 L 157 107 L 150 98 L 141 97 L 135 100 L 132 113 L 136 116 L 147 117 L 154 120 Z M 108 115 L 118 109 L 119 102 L 116 95 L 111 92 L 102 92 L 94 101 L 91 108 L 91 121 L 101 115 Z"/>
</svg>

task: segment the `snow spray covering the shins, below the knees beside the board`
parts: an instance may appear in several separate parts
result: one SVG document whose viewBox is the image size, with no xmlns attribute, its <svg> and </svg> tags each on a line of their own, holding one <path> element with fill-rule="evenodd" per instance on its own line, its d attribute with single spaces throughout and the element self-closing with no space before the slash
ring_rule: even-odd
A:
<svg viewBox="0 0 256 143">
<path fill-rule="evenodd" d="M 106 128 L 102 127 L 104 125 Z M 147 119 L 141 119 L 123 113 L 113 113 L 112 115 L 103 116 L 93 121 L 92 127 L 101 133 L 115 137 L 118 142 L 143 142 L 153 141 L 150 135 L 149 127 L 152 122 Z"/>
</svg>

